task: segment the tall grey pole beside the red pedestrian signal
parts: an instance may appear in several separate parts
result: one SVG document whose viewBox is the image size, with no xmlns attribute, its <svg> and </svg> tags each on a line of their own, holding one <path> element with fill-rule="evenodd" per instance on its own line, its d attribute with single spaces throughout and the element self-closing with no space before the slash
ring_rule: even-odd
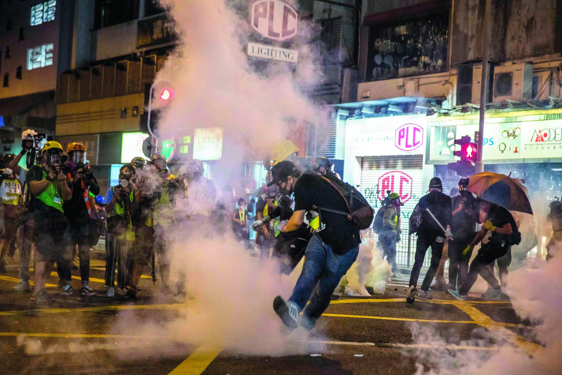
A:
<svg viewBox="0 0 562 375">
<path fill-rule="evenodd" d="M 490 6 L 491 0 L 486 0 L 486 7 L 484 8 L 484 25 L 482 27 L 484 34 L 484 43 L 482 51 L 482 79 L 480 85 L 480 124 L 478 126 L 478 153 L 476 159 L 475 172 L 480 173 L 484 171 L 483 145 L 484 145 L 484 120 L 486 119 L 486 100 L 488 96 L 488 81 L 490 81 Z"/>
</svg>

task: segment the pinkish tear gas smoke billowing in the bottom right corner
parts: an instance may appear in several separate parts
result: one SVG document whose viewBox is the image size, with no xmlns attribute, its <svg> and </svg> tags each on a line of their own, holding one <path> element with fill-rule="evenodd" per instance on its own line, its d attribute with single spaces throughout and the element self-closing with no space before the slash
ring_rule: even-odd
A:
<svg viewBox="0 0 562 375">
<path fill-rule="evenodd" d="M 560 283 L 560 256 L 554 257 L 548 263 L 542 263 L 538 269 L 520 268 L 509 274 L 507 294 L 511 303 L 518 316 L 533 327 L 523 330 L 531 332 L 523 338 L 538 345 L 523 345 L 525 342 L 517 338 L 520 333 L 506 331 L 507 337 L 511 337 L 506 342 L 506 336 L 502 336 L 501 332 L 477 328 L 473 331 L 471 340 L 459 344 L 495 345 L 501 346 L 500 350 L 496 353 L 478 350 L 450 353 L 426 349 L 416 353 L 416 374 L 559 374 L 562 369 L 562 290 L 558 287 Z M 411 329 L 414 342 L 442 346 L 458 341 L 454 333 L 450 337 L 439 337 L 431 329 L 420 329 L 417 324 L 413 324 Z M 429 369 L 425 371 L 425 368 Z"/>
</svg>

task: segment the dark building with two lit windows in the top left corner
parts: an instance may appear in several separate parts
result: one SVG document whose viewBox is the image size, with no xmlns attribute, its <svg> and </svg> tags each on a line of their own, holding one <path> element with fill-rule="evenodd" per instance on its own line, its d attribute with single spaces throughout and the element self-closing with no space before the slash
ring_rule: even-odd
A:
<svg viewBox="0 0 562 375">
<path fill-rule="evenodd" d="M 55 132 L 57 76 L 69 69 L 74 1 L 0 2 L 0 153 L 21 131 Z"/>
</svg>

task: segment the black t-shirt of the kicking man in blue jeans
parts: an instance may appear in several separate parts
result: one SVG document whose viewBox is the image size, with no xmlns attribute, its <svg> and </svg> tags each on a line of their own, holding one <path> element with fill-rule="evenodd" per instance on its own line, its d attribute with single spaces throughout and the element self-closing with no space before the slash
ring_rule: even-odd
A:
<svg viewBox="0 0 562 375">
<path fill-rule="evenodd" d="M 314 174 L 303 174 L 294 185 L 294 210 L 314 210 L 314 206 L 348 212 L 343 197 L 332 185 Z M 332 247 L 334 253 L 345 254 L 361 243 L 359 228 L 342 214 L 320 210 L 325 225 L 320 238 Z"/>
</svg>

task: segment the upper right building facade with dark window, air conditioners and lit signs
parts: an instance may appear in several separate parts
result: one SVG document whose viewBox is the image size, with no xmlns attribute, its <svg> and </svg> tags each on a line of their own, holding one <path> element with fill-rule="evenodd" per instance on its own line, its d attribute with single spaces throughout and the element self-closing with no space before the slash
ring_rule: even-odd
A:
<svg viewBox="0 0 562 375">
<path fill-rule="evenodd" d="M 544 222 L 547 204 L 562 194 L 562 4 L 556 0 L 491 4 L 490 81 L 484 147 L 479 151 L 485 170 L 511 173 L 525 181 L 537 222 L 534 251 L 541 256 L 550 236 Z M 427 187 L 433 175 L 442 178 L 447 192 L 456 186 L 461 176 L 447 168 L 448 162 L 458 160 L 452 155 L 460 149 L 454 141 L 464 135 L 474 140 L 478 130 L 484 6 L 478 0 L 362 3 L 357 98 L 334 106 L 330 124 L 334 137 L 328 141 L 337 145 L 336 154 L 345 155 L 345 177 L 362 192 L 385 190 L 378 178 L 370 178 L 379 169 L 386 171 L 371 162 L 377 150 L 386 150 L 395 161 L 404 157 L 399 148 L 391 152 L 397 142 L 391 130 L 397 126 L 424 128 L 420 186 Z M 425 119 L 411 121 L 411 116 Z M 359 135 L 353 126 L 356 121 L 365 124 Z M 353 130 L 347 130 L 350 126 Z M 353 139 L 382 142 L 372 135 L 373 126 L 388 133 L 387 147 L 378 144 L 372 151 L 360 147 L 363 155 L 347 150 L 357 143 Z M 309 140 L 318 141 L 323 140 Z"/>
</svg>

